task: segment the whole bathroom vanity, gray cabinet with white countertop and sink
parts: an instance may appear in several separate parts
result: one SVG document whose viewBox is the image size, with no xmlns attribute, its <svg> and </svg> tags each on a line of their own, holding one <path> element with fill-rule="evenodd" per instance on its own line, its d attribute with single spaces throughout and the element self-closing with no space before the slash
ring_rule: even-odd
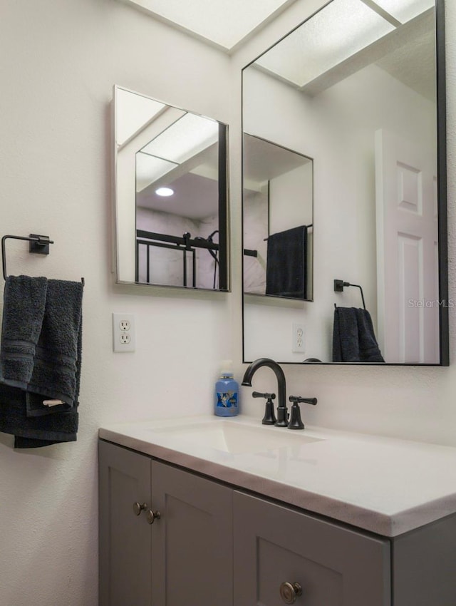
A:
<svg viewBox="0 0 456 606">
<path fill-rule="evenodd" d="M 456 603 L 456 448 L 242 416 L 99 436 L 102 606 Z"/>
</svg>

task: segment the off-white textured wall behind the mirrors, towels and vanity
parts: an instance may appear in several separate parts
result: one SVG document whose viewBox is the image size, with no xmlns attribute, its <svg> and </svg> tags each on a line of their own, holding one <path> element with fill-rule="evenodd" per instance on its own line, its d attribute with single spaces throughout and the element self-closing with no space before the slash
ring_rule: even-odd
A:
<svg viewBox="0 0 456 606">
<path fill-rule="evenodd" d="M 209 410 L 219 359 L 233 357 L 240 378 L 240 68 L 317 5 L 296 1 L 229 58 L 115 0 L 1 2 L 1 231 L 56 242 L 48 257 L 32 258 L 23 242 L 8 241 L 8 269 L 86 278 L 78 442 L 16 452 L 11 436 L 0 434 L 1 605 L 95 606 L 98 427 Z M 454 298 L 456 6 L 448 2 L 447 40 Z M 232 294 L 113 284 L 114 83 L 230 124 Z M 112 353 L 114 311 L 136 314 L 134 354 Z M 308 423 L 456 446 L 455 366 L 285 371 L 290 394 L 318 396 L 318 406 L 304 411 Z M 271 372 L 261 369 L 254 384 L 272 387 Z M 261 418 L 251 391 L 242 388 L 244 410 Z"/>
</svg>

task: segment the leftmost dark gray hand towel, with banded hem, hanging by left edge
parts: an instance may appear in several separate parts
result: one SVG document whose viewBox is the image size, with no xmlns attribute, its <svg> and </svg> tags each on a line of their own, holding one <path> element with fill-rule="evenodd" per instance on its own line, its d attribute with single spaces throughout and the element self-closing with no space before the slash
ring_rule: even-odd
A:
<svg viewBox="0 0 456 606">
<path fill-rule="evenodd" d="M 48 280 L 8 276 L 4 288 L 0 381 L 26 389 L 43 324 Z"/>
</svg>

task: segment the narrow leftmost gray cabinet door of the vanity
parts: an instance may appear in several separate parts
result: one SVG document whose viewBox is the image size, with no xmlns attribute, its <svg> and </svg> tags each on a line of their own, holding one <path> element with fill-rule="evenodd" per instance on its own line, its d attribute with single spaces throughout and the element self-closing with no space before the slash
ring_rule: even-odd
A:
<svg viewBox="0 0 456 606">
<path fill-rule="evenodd" d="M 150 458 L 99 442 L 100 606 L 151 605 Z"/>
</svg>

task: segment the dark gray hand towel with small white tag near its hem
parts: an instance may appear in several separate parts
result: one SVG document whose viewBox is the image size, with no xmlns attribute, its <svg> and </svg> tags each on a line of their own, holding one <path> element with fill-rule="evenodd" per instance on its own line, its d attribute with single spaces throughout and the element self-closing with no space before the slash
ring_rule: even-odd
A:
<svg viewBox="0 0 456 606">
<path fill-rule="evenodd" d="M 27 386 L 28 416 L 70 410 L 81 380 L 83 284 L 48 280 L 41 334 Z M 45 406 L 43 400 L 63 404 Z"/>
</svg>

